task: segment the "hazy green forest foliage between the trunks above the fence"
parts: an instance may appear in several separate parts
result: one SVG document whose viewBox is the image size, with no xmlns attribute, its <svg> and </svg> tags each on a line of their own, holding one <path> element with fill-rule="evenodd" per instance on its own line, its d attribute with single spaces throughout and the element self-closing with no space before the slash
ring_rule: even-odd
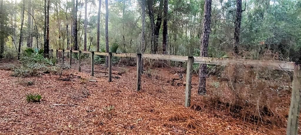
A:
<svg viewBox="0 0 301 135">
<path fill-rule="evenodd" d="M 1 0 L 1 46 L 10 57 L 17 54 L 20 41 L 23 2 L 25 5 L 23 40 L 21 50 L 27 47 L 44 46 L 43 0 Z M 74 46 L 74 0 L 50 0 L 49 6 L 49 48 L 70 49 Z M 77 43 L 79 50 L 85 48 L 97 51 L 98 0 L 76 0 L 77 2 Z M 85 4 L 87 4 L 85 29 Z M 163 2 L 154 0 L 152 4 L 154 43 L 152 43 L 152 23 L 149 17 L 150 3 L 145 2 L 145 53 L 163 49 Z M 204 1 L 169 0 L 167 27 L 167 54 L 193 55 L 200 49 L 200 33 L 203 19 Z M 240 27 L 240 56 L 245 59 L 273 59 L 297 61 L 301 44 L 301 2 L 296 0 L 246 0 L 242 1 Z M 106 48 L 105 2 L 100 9 L 100 50 Z M 108 44 L 118 44 L 118 52 L 136 52 L 141 45 L 141 0 L 108 1 Z M 209 57 L 217 57 L 220 52 L 231 56 L 234 46 L 235 0 L 213 0 Z M 161 19 L 160 19 L 161 18 Z M 162 21 L 162 23 L 158 23 Z M 68 25 L 68 28 L 67 28 Z M 86 44 L 85 44 L 86 31 Z M 157 34 L 156 34 L 157 32 Z M 157 35 L 157 37 L 156 37 Z M 69 41 L 67 41 L 69 40 Z M 69 43 L 68 43 L 69 42 Z M 266 58 L 269 56 L 269 58 Z"/>
</svg>

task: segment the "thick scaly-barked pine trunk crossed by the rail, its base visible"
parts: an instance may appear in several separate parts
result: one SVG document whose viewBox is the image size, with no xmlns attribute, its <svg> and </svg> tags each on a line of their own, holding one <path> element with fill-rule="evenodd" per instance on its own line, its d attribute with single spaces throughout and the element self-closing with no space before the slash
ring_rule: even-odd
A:
<svg viewBox="0 0 301 135">
<path fill-rule="evenodd" d="M 204 17 L 203 17 L 203 30 L 201 36 L 200 57 L 208 57 L 208 43 L 210 34 L 211 22 L 211 0 L 205 0 Z M 206 94 L 206 78 L 207 78 L 207 65 L 200 64 L 199 69 L 199 88 L 197 93 L 201 95 Z"/>
</svg>

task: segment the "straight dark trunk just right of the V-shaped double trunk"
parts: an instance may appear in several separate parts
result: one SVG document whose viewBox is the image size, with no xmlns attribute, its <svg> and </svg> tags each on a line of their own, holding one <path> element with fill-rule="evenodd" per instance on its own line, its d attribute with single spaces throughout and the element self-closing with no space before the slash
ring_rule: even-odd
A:
<svg viewBox="0 0 301 135">
<path fill-rule="evenodd" d="M 162 54 L 166 54 L 166 47 L 168 46 L 168 27 L 167 27 L 167 20 L 168 20 L 168 0 L 164 0 L 164 13 L 163 13 L 163 44 L 162 44 Z"/>
</svg>

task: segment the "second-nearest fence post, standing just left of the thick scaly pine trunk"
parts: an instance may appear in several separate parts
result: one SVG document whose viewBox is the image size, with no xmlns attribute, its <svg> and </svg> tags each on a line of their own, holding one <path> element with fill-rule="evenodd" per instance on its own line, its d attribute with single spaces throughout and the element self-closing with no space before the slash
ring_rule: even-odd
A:
<svg viewBox="0 0 301 135">
<path fill-rule="evenodd" d="M 187 62 L 187 71 L 186 71 L 185 107 L 190 106 L 192 64 L 193 64 L 193 56 L 189 56 Z"/>
</svg>

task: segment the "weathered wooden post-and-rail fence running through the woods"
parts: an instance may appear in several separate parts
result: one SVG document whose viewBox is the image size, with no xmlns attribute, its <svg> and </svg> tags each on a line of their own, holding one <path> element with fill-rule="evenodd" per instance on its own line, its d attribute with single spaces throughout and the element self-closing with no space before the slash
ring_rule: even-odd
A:
<svg viewBox="0 0 301 135">
<path fill-rule="evenodd" d="M 289 117 L 287 121 L 287 134 L 296 135 L 298 134 L 298 121 L 299 112 L 301 108 L 301 64 L 294 62 L 285 61 L 269 61 L 269 60 L 245 60 L 245 59 L 224 59 L 224 58 L 208 58 L 208 57 L 188 57 L 188 56 L 177 56 L 177 55 L 162 55 L 162 54 L 133 54 L 133 53 L 102 53 L 93 51 L 75 51 L 75 50 L 56 50 L 56 60 L 58 61 L 58 52 L 62 52 L 63 56 L 65 52 L 68 52 L 71 56 L 72 53 L 78 53 L 79 57 L 79 67 L 81 63 L 81 54 L 91 54 L 91 75 L 94 76 L 94 55 L 108 56 L 109 57 L 109 71 L 108 71 L 108 81 L 112 81 L 112 57 L 128 57 L 136 58 L 137 60 L 137 83 L 136 91 L 141 89 L 141 59 L 156 59 L 156 60 L 171 60 L 187 62 L 187 74 L 186 74 L 186 88 L 185 88 L 185 106 L 190 106 L 191 97 L 191 78 L 192 78 L 192 64 L 193 63 L 203 63 L 203 64 L 213 64 L 213 65 L 250 65 L 253 67 L 265 67 L 273 70 L 284 70 L 293 71 L 293 90 L 290 103 Z M 53 54 L 53 50 L 51 49 Z M 69 60 L 71 66 L 71 58 Z M 62 58 L 64 63 L 64 57 Z"/>
</svg>

